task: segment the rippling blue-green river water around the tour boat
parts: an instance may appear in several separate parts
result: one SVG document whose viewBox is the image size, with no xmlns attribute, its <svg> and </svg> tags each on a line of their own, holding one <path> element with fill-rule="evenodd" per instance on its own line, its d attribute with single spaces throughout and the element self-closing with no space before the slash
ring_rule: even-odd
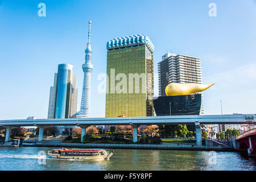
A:
<svg viewBox="0 0 256 182">
<path fill-rule="evenodd" d="M 0 171 L 10 170 L 254 170 L 237 152 L 115 149 L 109 160 L 51 159 L 52 147 L 0 147 Z M 111 149 L 106 149 L 111 152 Z"/>
</svg>

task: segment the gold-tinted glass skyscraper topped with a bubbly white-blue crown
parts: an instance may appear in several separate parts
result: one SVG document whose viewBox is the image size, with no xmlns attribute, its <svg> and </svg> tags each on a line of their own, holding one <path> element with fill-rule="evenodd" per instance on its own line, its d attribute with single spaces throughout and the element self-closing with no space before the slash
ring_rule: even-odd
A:
<svg viewBox="0 0 256 182">
<path fill-rule="evenodd" d="M 106 117 L 154 116 L 153 52 L 142 34 L 107 43 Z"/>
</svg>

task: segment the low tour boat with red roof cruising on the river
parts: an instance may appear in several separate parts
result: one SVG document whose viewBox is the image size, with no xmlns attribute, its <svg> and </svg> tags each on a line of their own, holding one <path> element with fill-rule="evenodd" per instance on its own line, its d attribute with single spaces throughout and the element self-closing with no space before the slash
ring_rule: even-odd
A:
<svg viewBox="0 0 256 182">
<path fill-rule="evenodd" d="M 105 150 L 76 150 L 76 149 L 54 149 L 48 151 L 48 155 L 51 158 L 57 159 L 109 159 L 114 154 L 112 151 L 110 154 Z"/>
</svg>

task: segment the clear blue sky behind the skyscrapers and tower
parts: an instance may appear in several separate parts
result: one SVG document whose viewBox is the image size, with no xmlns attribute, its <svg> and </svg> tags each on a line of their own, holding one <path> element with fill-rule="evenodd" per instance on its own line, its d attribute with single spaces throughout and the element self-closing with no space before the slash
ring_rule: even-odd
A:
<svg viewBox="0 0 256 182">
<path fill-rule="evenodd" d="M 38 4 L 46 4 L 46 17 Z M 208 15 L 216 3 L 217 16 Z M 57 65 L 74 65 L 80 108 L 82 64 L 92 20 L 91 117 L 105 117 L 97 76 L 106 72 L 106 42 L 145 34 L 155 46 L 154 72 L 167 51 L 201 58 L 205 114 L 256 113 L 256 1 L 0 0 L 0 119 L 47 118 Z M 155 96 L 158 95 L 155 75 Z"/>
</svg>

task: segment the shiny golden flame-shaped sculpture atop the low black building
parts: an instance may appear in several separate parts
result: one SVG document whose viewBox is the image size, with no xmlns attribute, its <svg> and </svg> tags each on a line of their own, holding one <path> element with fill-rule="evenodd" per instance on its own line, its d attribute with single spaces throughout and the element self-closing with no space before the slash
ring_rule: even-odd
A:
<svg viewBox="0 0 256 182">
<path fill-rule="evenodd" d="M 172 83 L 166 86 L 167 96 L 183 96 L 202 92 L 214 84 L 178 84 Z"/>
</svg>

